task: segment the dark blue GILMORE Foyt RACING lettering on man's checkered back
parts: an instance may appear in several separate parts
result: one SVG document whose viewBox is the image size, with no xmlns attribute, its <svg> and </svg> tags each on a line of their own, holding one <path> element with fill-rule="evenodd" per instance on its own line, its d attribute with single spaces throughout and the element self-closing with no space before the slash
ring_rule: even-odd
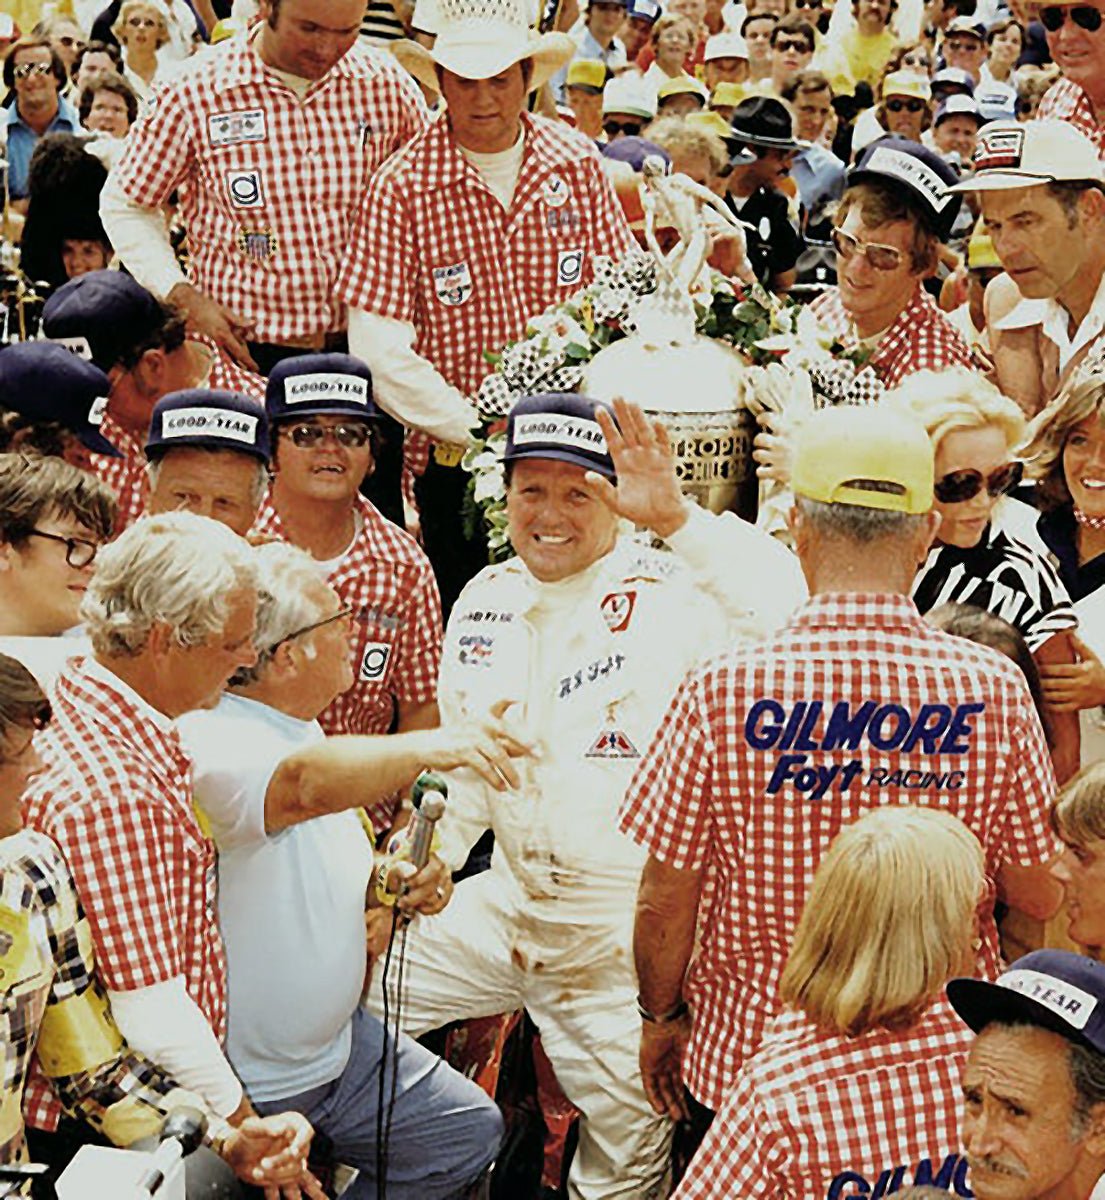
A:
<svg viewBox="0 0 1105 1200">
<path fill-rule="evenodd" d="M 870 766 L 864 758 L 846 763 L 818 763 L 811 752 L 834 750 L 902 755 L 965 755 L 974 733 L 972 718 L 984 704 L 921 704 L 912 712 L 903 704 L 865 700 L 839 701 L 827 709 L 819 700 L 795 701 L 789 710 L 776 700 L 758 700 L 744 722 L 745 742 L 755 750 L 795 751 L 781 754 L 768 780 L 768 793 L 785 785 L 819 799 L 829 788 L 846 791 L 853 785 L 906 790 L 949 790 L 962 786 L 962 770 L 925 770 Z"/>
</svg>

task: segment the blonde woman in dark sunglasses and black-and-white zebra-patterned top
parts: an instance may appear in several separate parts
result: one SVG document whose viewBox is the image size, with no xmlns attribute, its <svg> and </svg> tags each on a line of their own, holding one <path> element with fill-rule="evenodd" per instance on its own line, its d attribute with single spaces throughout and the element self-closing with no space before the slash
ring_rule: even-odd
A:
<svg viewBox="0 0 1105 1200">
<path fill-rule="evenodd" d="M 1055 568 L 1021 536 L 1032 514 L 1008 499 L 1023 475 L 1014 448 L 1025 437 L 1021 409 L 968 371 L 918 372 L 885 403 L 907 408 L 929 431 L 936 457 L 937 541 L 913 583 L 921 612 L 959 602 L 1008 620 L 1041 673 L 1075 661 L 1077 617 Z M 1038 545 L 1038 542 L 1037 542 Z M 1061 781 L 1079 768 L 1079 726 L 1049 707 L 1052 758 Z"/>
</svg>

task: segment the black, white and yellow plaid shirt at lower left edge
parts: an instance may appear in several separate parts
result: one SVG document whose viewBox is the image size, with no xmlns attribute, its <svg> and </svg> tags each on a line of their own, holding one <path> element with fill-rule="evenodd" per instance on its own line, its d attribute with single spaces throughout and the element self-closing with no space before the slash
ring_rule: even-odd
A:
<svg viewBox="0 0 1105 1200">
<path fill-rule="evenodd" d="M 124 1045 L 94 976 L 92 936 L 61 852 L 23 829 L 0 841 L 0 1163 L 25 1157 L 20 1102 L 31 1069 L 65 1110 L 125 1144 L 154 1135 L 176 1085 Z M 16 1133 L 12 1134 L 12 1129 Z"/>
</svg>

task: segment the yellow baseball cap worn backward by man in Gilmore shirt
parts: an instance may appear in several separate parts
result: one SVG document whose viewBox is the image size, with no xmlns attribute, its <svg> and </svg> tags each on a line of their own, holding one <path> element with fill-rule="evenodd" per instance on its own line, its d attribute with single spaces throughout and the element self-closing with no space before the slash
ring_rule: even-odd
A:
<svg viewBox="0 0 1105 1200">
<path fill-rule="evenodd" d="M 932 476 L 925 427 L 878 406 L 823 408 L 795 438 L 791 486 L 810 500 L 927 512 Z"/>
</svg>

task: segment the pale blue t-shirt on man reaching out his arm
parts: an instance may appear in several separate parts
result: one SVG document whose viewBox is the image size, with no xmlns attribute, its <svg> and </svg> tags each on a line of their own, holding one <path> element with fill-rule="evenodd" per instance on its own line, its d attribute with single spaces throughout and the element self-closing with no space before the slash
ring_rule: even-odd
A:
<svg viewBox="0 0 1105 1200">
<path fill-rule="evenodd" d="M 317 721 L 227 694 L 178 728 L 218 847 L 227 1057 L 254 1100 L 281 1100 L 337 1079 L 349 1058 L 372 846 L 352 811 L 265 833 L 269 781 L 322 740 Z"/>
</svg>

